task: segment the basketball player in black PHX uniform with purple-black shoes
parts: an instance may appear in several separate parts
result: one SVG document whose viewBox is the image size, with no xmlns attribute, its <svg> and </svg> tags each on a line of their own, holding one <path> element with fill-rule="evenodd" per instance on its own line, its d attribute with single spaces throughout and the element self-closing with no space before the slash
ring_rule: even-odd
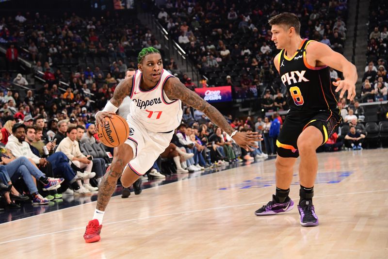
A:
<svg viewBox="0 0 388 259">
<path fill-rule="evenodd" d="M 287 113 L 276 141 L 276 192 L 272 201 L 255 211 L 257 216 L 289 211 L 293 165 L 300 156 L 300 224 L 318 226 L 312 197 L 318 170 L 315 150 L 323 145 L 341 120 L 335 92 L 353 100 L 356 95 L 355 65 L 341 54 L 320 42 L 302 39 L 300 22 L 291 13 L 282 13 L 269 20 L 272 41 L 281 51 L 275 56 L 275 67 L 288 90 Z M 330 81 L 329 67 L 343 72 L 344 80 Z M 337 88 L 335 88 L 337 87 Z"/>
</svg>

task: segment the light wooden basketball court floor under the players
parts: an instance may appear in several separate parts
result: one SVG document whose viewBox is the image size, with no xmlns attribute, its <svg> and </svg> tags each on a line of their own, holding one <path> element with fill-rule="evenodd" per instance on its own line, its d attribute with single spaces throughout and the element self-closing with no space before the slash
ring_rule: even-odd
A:
<svg viewBox="0 0 388 259">
<path fill-rule="evenodd" d="M 101 241 L 82 235 L 96 202 L 0 225 L 2 258 L 387 258 L 388 149 L 320 153 L 313 199 L 320 226 L 296 206 L 257 217 L 275 191 L 274 160 L 113 197 Z M 297 164 L 298 165 L 298 164 Z M 295 174 L 297 173 L 295 166 Z M 298 203 L 295 176 L 291 198 Z M 295 205 L 296 205 L 295 204 Z"/>
</svg>

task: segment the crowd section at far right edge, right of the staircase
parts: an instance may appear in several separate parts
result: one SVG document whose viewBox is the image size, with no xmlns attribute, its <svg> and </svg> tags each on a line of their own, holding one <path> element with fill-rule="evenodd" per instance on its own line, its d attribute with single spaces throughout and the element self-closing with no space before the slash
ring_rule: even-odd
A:
<svg viewBox="0 0 388 259">
<path fill-rule="evenodd" d="M 361 100 L 372 102 L 387 100 L 387 44 L 388 14 L 385 1 L 371 1 L 369 13 L 369 32 L 367 65 L 362 78 Z"/>
</svg>

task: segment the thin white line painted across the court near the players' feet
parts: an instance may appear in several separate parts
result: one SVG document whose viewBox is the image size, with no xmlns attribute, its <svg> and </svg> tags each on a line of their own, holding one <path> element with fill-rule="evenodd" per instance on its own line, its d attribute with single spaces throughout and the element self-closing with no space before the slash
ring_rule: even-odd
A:
<svg viewBox="0 0 388 259">
<path fill-rule="evenodd" d="M 375 190 L 375 191 L 366 191 L 366 192 L 356 192 L 356 193 L 347 193 L 347 194 L 327 194 L 327 195 L 321 195 L 321 196 L 314 196 L 314 198 L 323 198 L 323 197 L 339 196 L 339 195 L 350 195 L 350 194 L 367 194 L 367 193 L 377 193 L 377 192 L 387 192 L 387 191 L 388 191 L 388 189 L 385 189 L 385 190 Z M 293 200 L 299 200 L 299 198 L 296 198 L 296 199 L 293 199 Z M 188 211 L 182 211 L 182 212 L 174 212 L 174 213 L 168 213 L 168 214 L 162 214 L 162 215 L 156 215 L 156 216 L 149 216 L 149 217 L 143 217 L 143 218 L 136 218 L 136 219 L 127 219 L 127 220 L 114 221 L 114 222 L 110 222 L 110 223 L 105 223 L 104 226 L 105 226 L 105 225 L 116 224 L 116 223 L 129 222 L 129 221 L 136 221 L 136 220 L 143 220 L 143 219 L 151 219 L 151 218 L 158 218 L 158 217 L 172 216 L 172 215 L 185 214 L 185 213 L 193 213 L 193 212 L 198 212 L 198 211 L 206 211 L 206 210 L 222 210 L 222 209 L 227 209 L 227 208 L 235 208 L 235 207 L 242 207 L 242 206 L 250 206 L 250 205 L 263 204 L 263 203 L 265 203 L 265 202 L 255 202 L 255 203 L 247 203 L 247 204 L 240 204 L 240 205 L 230 205 L 230 206 L 223 206 L 223 207 L 208 208 L 208 209 L 202 209 L 202 210 L 188 210 Z M 82 204 L 81 204 L 81 205 L 82 205 Z M 71 208 L 73 208 L 73 207 L 71 207 Z M 75 227 L 75 228 L 70 228 L 70 229 L 65 229 L 65 230 L 60 230 L 60 231 L 45 233 L 45 234 L 39 234 L 39 235 L 34 235 L 34 236 L 29 236 L 29 237 L 14 239 L 14 240 L 8 240 L 8 241 L 0 242 L 0 244 L 3 244 L 3 243 L 11 243 L 11 242 L 21 241 L 21 240 L 26 240 L 26 239 L 36 238 L 36 237 L 43 237 L 43 236 L 48 236 L 48 235 L 51 235 L 51 234 L 57 234 L 57 233 L 62 233 L 62 232 L 68 232 L 68 231 L 78 230 L 78 229 L 84 229 L 84 228 L 85 228 L 85 227 Z"/>
</svg>

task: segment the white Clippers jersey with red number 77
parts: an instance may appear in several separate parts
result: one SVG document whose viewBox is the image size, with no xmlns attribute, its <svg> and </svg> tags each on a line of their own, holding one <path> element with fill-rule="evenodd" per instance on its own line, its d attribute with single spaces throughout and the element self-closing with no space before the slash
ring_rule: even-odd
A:
<svg viewBox="0 0 388 259">
<path fill-rule="evenodd" d="M 161 79 L 155 87 L 142 91 L 140 90 L 142 74 L 140 70 L 136 70 L 133 76 L 129 116 L 137 119 L 147 130 L 153 132 L 168 132 L 178 128 L 183 114 L 182 102 L 170 100 L 163 91 L 166 81 L 174 76 L 163 69 Z"/>
</svg>

